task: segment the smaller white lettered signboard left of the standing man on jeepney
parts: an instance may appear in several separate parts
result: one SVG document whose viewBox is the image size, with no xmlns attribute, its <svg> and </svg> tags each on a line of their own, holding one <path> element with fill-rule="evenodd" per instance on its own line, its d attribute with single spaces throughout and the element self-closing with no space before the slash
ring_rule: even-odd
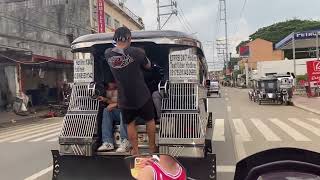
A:
<svg viewBox="0 0 320 180">
<path fill-rule="evenodd" d="M 75 59 L 74 60 L 74 82 L 90 83 L 94 80 L 92 59 Z"/>
</svg>

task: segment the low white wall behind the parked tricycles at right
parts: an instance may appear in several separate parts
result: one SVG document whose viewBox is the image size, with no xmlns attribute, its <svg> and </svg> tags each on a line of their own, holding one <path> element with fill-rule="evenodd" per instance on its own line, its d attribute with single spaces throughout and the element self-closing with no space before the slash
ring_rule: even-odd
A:
<svg viewBox="0 0 320 180">
<path fill-rule="evenodd" d="M 305 75 L 307 73 L 306 62 L 314 59 L 297 59 L 296 75 Z M 294 72 L 293 60 L 280 61 L 261 61 L 257 63 L 257 76 L 265 76 L 266 73 L 287 73 Z"/>
</svg>

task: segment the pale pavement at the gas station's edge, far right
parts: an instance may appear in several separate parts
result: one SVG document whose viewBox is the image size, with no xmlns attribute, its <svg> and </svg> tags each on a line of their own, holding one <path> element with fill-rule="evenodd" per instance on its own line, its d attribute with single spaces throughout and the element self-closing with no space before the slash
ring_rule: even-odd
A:
<svg viewBox="0 0 320 180">
<path fill-rule="evenodd" d="M 303 96 L 294 96 L 292 98 L 293 105 L 320 115 L 320 98 L 319 97 L 303 97 Z"/>
</svg>

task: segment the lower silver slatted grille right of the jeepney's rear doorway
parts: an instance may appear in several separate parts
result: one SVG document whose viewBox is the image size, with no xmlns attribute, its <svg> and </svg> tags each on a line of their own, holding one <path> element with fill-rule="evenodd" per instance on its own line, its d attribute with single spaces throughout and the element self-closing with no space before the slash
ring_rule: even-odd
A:
<svg viewBox="0 0 320 180">
<path fill-rule="evenodd" d="M 160 139 L 199 139 L 205 137 L 205 122 L 198 113 L 163 113 Z M 178 142 L 179 144 L 179 142 Z"/>
</svg>

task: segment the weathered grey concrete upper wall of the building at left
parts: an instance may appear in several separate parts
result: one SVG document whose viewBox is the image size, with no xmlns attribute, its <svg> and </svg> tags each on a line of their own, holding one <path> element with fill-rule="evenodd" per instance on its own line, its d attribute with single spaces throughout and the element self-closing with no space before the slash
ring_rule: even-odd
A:
<svg viewBox="0 0 320 180">
<path fill-rule="evenodd" d="M 26 0 L 1 7 L 5 16 L 0 17 L 2 45 L 30 49 L 42 56 L 72 59 L 67 34 L 76 38 L 90 33 L 88 0 Z"/>
</svg>

